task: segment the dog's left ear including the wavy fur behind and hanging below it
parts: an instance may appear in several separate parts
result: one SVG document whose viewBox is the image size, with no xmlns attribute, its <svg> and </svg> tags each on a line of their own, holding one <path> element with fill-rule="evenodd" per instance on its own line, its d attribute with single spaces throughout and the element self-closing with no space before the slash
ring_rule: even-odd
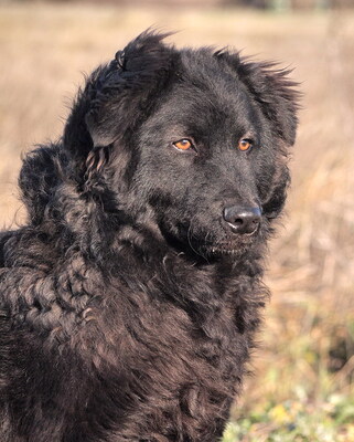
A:
<svg viewBox="0 0 354 442">
<path fill-rule="evenodd" d="M 146 31 L 98 67 L 79 91 L 64 131 L 64 147 L 81 164 L 85 176 L 108 161 L 111 145 L 133 133 L 163 90 L 175 51 L 162 43 L 169 34 Z"/>
</svg>

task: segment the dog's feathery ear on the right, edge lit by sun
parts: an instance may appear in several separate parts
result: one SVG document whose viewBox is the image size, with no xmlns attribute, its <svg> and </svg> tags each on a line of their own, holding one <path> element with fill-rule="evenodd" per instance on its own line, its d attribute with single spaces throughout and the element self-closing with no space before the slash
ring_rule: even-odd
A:
<svg viewBox="0 0 354 442">
<path fill-rule="evenodd" d="M 257 63 L 238 53 L 217 51 L 214 54 L 219 61 L 229 65 L 245 84 L 254 99 L 271 123 L 273 133 L 288 146 L 296 140 L 298 126 L 300 93 L 298 83 L 289 80 L 291 70 L 277 70 L 276 63 Z"/>
</svg>

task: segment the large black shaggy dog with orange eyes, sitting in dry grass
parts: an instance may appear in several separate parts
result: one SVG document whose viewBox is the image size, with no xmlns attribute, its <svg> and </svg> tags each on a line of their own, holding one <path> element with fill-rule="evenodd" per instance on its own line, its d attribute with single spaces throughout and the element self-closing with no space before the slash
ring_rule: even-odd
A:
<svg viewBox="0 0 354 442">
<path fill-rule="evenodd" d="M 24 160 L 0 235 L 1 442 L 214 442 L 267 291 L 287 72 L 146 32 Z"/>
</svg>

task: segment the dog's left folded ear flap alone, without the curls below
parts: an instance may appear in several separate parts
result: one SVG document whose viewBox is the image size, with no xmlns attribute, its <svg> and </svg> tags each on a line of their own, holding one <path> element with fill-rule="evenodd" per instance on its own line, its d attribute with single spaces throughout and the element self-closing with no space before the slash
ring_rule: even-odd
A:
<svg viewBox="0 0 354 442">
<path fill-rule="evenodd" d="M 169 34 L 147 31 L 117 52 L 96 81 L 86 124 L 94 146 L 112 143 L 149 114 L 151 95 L 163 88 L 173 51 L 162 43 Z"/>
</svg>

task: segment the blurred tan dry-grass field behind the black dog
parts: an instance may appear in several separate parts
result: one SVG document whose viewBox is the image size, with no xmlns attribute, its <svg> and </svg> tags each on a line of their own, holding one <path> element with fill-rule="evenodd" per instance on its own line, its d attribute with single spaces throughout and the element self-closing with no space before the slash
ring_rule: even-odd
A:
<svg viewBox="0 0 354 442">
<path fill-rule="evenodd" d="M 150 25 L 293 67 L 304 96 L 265 314 L 225 442 L 354 441 L 354 0 L 0 0 L 0 227 L 21 155 L 61 136 L 84 73 Z"/>
</svg>

